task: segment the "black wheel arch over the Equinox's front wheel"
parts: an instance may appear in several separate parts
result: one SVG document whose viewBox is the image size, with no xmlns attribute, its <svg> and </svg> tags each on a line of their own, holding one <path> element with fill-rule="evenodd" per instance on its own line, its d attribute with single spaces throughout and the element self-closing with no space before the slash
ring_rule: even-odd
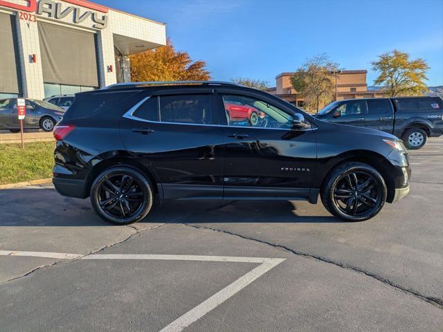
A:
<svg viewBox="0 0 443 332">
<path fill-rule="evenodd" d="M 394 178 L 392 178 L 392 172 L 390 171 L 392 164 L 381 154 L 370 150 L 347 151 L 344 154 L 338 155 L 336 158 L 334 158 L 334 160 L 327 165 L 327 171 L 322 178 L 320 190 L 323 190 L 323 187 L 327 183 L 329 174 L 331 174 L 332 171 L 338 167 L 338 165 L 352 161 L 364 163 L 374 167 L 374 169 L 377 169 L 381 176 L 383 176 L 383 180 L 386 183 L 386 189 L 388 190 L 386 201 L 388 203 L 392 202 L 395 196 L 395 181 Z"/>
</svg>

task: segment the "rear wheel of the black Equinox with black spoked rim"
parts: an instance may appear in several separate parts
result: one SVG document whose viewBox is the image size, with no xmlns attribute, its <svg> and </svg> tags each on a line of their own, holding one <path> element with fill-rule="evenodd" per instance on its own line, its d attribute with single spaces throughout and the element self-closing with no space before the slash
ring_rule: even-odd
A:
<svg viewBox="0 0 443 332">
<path fill-rule="evenodd" d="M 116 225 L 141 221 L 150 212 L 152 201 L 150 181 L 130 167 L 106 169 L 91 186 L 93 209 L 100 218 Z"/>
</svg>

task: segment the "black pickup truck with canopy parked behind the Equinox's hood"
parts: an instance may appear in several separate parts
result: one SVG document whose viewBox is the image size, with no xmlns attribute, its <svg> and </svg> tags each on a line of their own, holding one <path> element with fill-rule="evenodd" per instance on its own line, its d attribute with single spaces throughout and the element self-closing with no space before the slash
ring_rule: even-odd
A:
<svg viewBox="0 0 443 332">
<path fill-rule="evenodd" d="M 429 136 L 443 135 L 440 97 L 338 100 L 314 115 L 320 120 L 386 131 L 408 149 L 422 148 Z"/>
</svg>

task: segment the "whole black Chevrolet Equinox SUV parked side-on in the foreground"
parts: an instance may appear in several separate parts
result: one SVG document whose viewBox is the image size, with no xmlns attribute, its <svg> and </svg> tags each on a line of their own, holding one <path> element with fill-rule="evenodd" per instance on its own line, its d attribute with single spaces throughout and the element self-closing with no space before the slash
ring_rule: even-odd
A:
<svg viewBox="0 0 443 332">
<path fill-rule="evenodd" d="M 230 118 L 226 105 L 233 104 L 257 118 Z M 54 135 L 56 190 L 91 196 L 111 223 L 140 221 L 155 195 L 311 203 L 320 195 L 338 218 L 362 221 L 409 192 L 408 154 L 395 136 L 323 122 L 269 93 L 224 82 L 78 93 Z"/>
</svg>

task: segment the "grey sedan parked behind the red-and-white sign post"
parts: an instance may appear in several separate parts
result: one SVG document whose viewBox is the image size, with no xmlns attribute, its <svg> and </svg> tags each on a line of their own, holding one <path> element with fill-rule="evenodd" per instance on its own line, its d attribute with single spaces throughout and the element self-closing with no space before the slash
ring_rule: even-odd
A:
<svg viewBox="0 0 443 332">
<path fill-rule="evenodd" d="M 27 98 L 25 98 L 25 102 L 24 129 L 53 131 L 55 124 L 60 122 L 64 116 L 64 109 L 49 102 Z M 17 98 L 0 100 L 0 129 L 10 130 L 12 133 L 20 131 L 20 122 L 17 116 Z"/>
</svg>

